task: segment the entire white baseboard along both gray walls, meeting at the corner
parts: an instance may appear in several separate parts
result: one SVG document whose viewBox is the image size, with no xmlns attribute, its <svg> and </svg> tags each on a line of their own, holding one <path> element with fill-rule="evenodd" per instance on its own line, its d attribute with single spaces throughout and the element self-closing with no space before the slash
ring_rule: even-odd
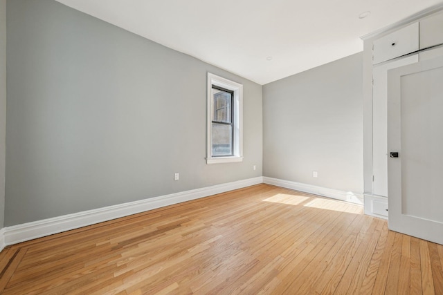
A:
<svg viewBox="0 0 443 295">
<path fill-rule="evenodd" d="M 114 206 L 82 211 L 44 220 L 37 220 L 21 225 L 14 225 L 12 227 L 3 227 L 3 229 L 0 229 L 0 251 L 7 245 L 25 242 L 26 240 L 33 240 L 35 238 L 41 238 L 42 236 L 58 234 L 62 231 L 78 229 L 80 227 L 86 227 L 87 225 L 93 225 L 99 222 L 113 220 L 172 204 L 213 196 L 217 193 L 224 193 L 234 189 L 242 189 L 244 187 L 250 187 L 251 185 L 260 184 L 263 182 L 266 184 L 273 184 L 278 187 L 303 191 L 305 193 L 313 193 L 319 196 L 325 196 L 355 204 L 363 204 L 363 195 L 359 193 L 327 189 L 310 184 L 302 184 L 299 182 L 260 176 L 257 178 L 228 182 L 226 184 L 217 184 L 212 187 L 192 189 L 190 191 L 171 193 L 170 195 L 148 198 L 135 202 L 127 202 L 124 204 L 117 204 Z"/>
</svg>

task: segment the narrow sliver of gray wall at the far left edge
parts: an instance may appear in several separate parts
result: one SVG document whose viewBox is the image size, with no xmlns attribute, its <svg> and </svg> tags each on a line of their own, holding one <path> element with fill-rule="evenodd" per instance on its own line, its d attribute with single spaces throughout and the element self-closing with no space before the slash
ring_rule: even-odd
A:
<svg viewBox="0 0 443 295">
<path fill-rule="evenodd" d="M 6 0 L 0 0 L 0 229 L 5 213 Z"/>
</svg>

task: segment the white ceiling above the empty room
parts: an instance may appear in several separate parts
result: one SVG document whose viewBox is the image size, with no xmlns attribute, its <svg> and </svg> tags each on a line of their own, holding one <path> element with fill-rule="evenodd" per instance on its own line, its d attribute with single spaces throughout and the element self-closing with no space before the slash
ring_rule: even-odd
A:
<svg viewBox="0 0 443 295">
<path fill-rule="evenodd" d="M 258 84 L 358 53 L 363 50 L 359 37 L 442 3 L 442 0 L 57 1 Z M 359 19 L 365 11 L 372 13 Z"/>
</svg>

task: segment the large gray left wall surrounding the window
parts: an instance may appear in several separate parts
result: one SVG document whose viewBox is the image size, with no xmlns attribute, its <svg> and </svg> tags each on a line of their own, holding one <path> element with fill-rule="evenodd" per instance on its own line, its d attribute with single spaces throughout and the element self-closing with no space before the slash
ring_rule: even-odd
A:
<svg viewBox="0 0 443 295">
<path fill-rule="evenodd" d="M 7 226 L 262 175 L 262 86 L 55 1 L 7 11 Z M 207 71 L 244 85 L 244 162 L 206 164 Z"/>
</svg>

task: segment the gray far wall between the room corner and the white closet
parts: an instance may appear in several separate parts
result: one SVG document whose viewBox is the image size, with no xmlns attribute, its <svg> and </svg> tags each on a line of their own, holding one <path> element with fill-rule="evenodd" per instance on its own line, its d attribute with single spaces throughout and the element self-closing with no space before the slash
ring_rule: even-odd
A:
<svg viewBox="0 0 443 295">
<path fill-rule="evenodd" d="M 363 192 L 362 58 L 263 86 L 264 176 Z"/>
</svg>

